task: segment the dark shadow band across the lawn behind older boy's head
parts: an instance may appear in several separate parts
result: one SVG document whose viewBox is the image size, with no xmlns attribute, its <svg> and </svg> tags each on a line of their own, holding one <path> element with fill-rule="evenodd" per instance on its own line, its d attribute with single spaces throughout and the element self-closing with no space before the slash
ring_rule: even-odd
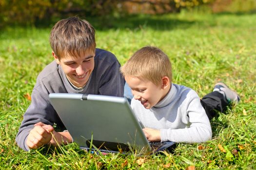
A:
<svg viewBox="0 0 256 170">
<path fill-rule="evenodd" d="M 67 18 L 67 17 L 62 17 Z M 37 28 L 51 28 L 62 18 L 54 18 L 52 21 L 41 20 L 35 23 Z M 157 30 L 186 29 L 195 24 L 195 21 L 171 18 L 168 15 L 127 15 L 123 17 L 80 17 L 88 20 L 96 30 L 109 29 L 137 29 L 147 27 Z"/>
</svg>

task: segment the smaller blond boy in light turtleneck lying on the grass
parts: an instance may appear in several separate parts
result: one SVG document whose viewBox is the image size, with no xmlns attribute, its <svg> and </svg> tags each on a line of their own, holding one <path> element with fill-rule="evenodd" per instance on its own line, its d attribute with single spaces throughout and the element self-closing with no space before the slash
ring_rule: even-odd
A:
<svg viewBox="0 0 256 170">
<path fill-rule="evenodd" d="M 168 56 L 155 47 L 144 47 L 121 67 L 134 98 L 131 107 L 149 141 L 205 142 L 212 137 L 209 119 L 223 112 L 238 95 L 218 83 L 201 101 L 191 88 L 172 83 Z"/>
</svg>

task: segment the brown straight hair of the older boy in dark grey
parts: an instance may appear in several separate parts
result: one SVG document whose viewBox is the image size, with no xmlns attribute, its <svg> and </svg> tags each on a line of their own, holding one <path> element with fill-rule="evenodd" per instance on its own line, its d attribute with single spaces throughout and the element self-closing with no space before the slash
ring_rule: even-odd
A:
<svg viewBox="0 0 256 170">
<path fill-rule="evenodd" d="M 59 59 L 67 55 L 78 58 L 88 50 L 95 50 L 95 30 L 88 21 L 79 17 L 62 19 L 52 28 L 50 43 Z"/>
</svg>

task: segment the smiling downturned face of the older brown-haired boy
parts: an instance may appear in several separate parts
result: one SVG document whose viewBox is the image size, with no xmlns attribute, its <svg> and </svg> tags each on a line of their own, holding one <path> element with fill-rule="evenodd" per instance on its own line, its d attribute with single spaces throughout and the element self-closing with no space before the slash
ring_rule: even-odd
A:
<svg viewBox="0 0 256 170">
<path fill-rule="evenodd" d="M 86 51 L 78 58 L 67 55 L 61 59 L 59 59 L 54 52 L 52 53 L 57 64 L 62 67 L 68 80 L 73 85 L 76 87 L 82 87 L 88 82 L 94 69 L 95 51 Z"/>
</svg>

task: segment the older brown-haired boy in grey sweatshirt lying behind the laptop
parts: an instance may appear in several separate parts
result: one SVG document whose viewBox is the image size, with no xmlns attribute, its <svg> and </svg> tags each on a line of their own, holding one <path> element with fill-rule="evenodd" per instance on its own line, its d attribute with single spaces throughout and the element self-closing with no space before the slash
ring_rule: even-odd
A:
<svg viewBox="0 0 256 170">
<path fill-rule="evenodd" d="M 49 93 L 123 97 L 120 64 L 111 52 L 96 49 L 95 30 L 88 21 L 78 17 L 60 20 L 51 30 L 50 43 L 55 60 L 39 74 L 32 102 L 16 136 L 18 145 L 25 151 L 45 144 L 72 142 L 49 101 Z"/>
</svg>

